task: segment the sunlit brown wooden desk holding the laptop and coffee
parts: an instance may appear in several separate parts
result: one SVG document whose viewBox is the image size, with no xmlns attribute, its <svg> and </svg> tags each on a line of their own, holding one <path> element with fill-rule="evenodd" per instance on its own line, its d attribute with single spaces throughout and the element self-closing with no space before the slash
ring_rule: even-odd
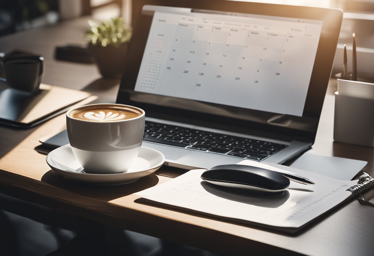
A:
<svg viewBox="0 0 374 256">
<path fill-rule="evenodd" d="M 94 65 L 72 64 L 52 58 L 55 45 L 84 42 L 86 20 L 0 38 L 1 51 L 21 48 L 45 57 L 44 83 L 111 94 L 119 81 L 99 79 Z M 93 82 L 92 82 L 93 81 Z M 109 85 L 108 85 L 109 83 Z M 316 142 L 316 152 L 368 161 L 364 171 L 374 175 L 374 149 L 332 140 L 335 82 L 331 82 Z M 0 192 L 77 216 L 168 241 L 225 255 L 373 255 L 373 207 L 351 200 L 319 218 L 294 236 L 223 222 L 200 215 L 138 204 L 134 192 L 165 182 L 181 172 L 162 167 L 138 182 L 114 187 L 72 182 L 50 170 L 45 155 L 34 148 L 39 138 L 65 128 L 61 115 L 33 129 L 0 127 Z M 373 199 L 374 191 L 367 192 Z M 251 253 L 249 253 L 251 252 Z"/>
</svg>

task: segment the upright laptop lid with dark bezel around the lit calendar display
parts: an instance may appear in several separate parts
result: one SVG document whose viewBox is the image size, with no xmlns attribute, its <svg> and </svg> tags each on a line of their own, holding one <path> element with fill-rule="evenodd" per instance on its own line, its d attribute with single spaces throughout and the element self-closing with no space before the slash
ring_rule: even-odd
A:
<svg viewBox="0 0 374 256">
<path fill-rule="evenodd" d="M 258 6 L 269 11 L 142 6 L 117 102 L 151 115 L 199 113 L 217 124 L 315 134 L 334 57 L 323 52 L 335 51 L 340 21 L 336 39 L 324 42 L 327 17 Z M 318 74 L 321 64 L 328 70 Z"/>
</svg>

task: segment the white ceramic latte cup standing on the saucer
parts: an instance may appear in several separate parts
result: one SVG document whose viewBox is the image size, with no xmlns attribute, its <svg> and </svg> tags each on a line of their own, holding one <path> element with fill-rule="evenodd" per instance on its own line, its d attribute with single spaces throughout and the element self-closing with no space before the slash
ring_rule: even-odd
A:
<svg viewBox="0 0 374 256">
<path fill-rule="evenodd" d="M 70 116 L 73 111 L 79 112 L 98 105 L 100 108 L 115 106 L 135 109 L 141 115 L 115 121 L 88 121 Z M 74 156 L 84 171 L 96 174 L 125 172 L 140 151 L 144 118 L 144 110 L 122 104 L 91 104 L 69 110 L 66 113 L 68 138 Z"/>
</svg>

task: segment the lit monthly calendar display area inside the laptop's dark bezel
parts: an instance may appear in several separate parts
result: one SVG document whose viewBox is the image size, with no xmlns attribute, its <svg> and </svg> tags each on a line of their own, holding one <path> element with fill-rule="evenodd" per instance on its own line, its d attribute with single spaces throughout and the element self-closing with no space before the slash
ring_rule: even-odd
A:
<svg viewBox="0 0 374 256">
<path fill-rule="evenodd" d="M 322 22 L 155 12 L 135 91 L 302 116 Z"/>
</svg>

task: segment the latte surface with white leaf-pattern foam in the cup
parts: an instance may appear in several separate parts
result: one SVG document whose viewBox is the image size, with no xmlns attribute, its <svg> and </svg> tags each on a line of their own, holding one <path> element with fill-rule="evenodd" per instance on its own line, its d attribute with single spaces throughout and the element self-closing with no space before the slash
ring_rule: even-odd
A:
<svg viewBox="0 0 374 256">
<path fill-rule="evenodd" d="M 100 104 L 75 109 L 69 113 L 69 116 L 85 121 L 110 122 L 135 118 L 141 114 L 140 111 L 129 107 Z"/>
</svg>

